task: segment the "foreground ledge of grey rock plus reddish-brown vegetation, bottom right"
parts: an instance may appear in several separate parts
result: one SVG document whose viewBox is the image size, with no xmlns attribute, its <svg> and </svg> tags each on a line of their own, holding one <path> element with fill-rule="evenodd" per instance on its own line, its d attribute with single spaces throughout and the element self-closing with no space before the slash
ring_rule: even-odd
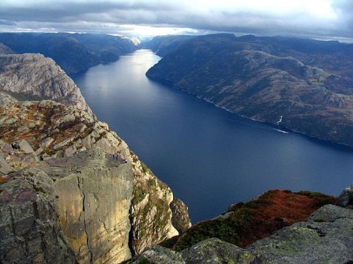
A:
<svg viewBox="0 0 353 264">
<path fill-rule="evenodd" d="M 287 197 L 284 194 L 287 194 Z M 264 199 L 268 200 L 269 195 L 273 196 L 270 199 L 273 204 L 265 205 Z M 153 246 L 129 263 L 352 263 L 353 210 L 350 208 L 352 206 L 350 200 L 352 195 L 351 185 L 345 189 L 337 201 L 337 204 L 344 204 L 345 208 L 328 204 L 315 210 L 314 208 L 319 207 L 324 201 L 323 198 L 327 199 L 327 196 L 324 197 L 321 194 L 308 191 L 299 194 L 289 191 L 270 191 L 263 195 L 267 196 L 265 198 L 260 196 L 249 203 L 234 204 L 225 215 L 221 215 L 215 220 L 206 221 L 208 222 L 208 228 L 204 229 L 203 232 L 198 232 L 198 239 L 204 236 L 203 239 L 193 241 L 193 244 L 182 251 L 173 251 L 163 246 Z M 303 199 L 304 196 L 306 198 Z M 268 201 L 265 201 L 265 203 L 268 203 Z M 237 211 L 244 210 L 244 206 L 248 212 L 239 217 Z M 232 242 L 229 243 L 216 238 L 227 239 L 232 235 L 234 237 L 234 232 L 241 234 L 249 227 L 247 221 L 254 220 L 259 215 L 264 216 L 264 211 L 261 209 L 263 206 L 268 208 L 268 216 L 279 215 L 280 217 L 273 219 L 279 225 L 285 227 L 273 231 L 274 234 L 257 240 L 248 246 L 242 245 L 243 248 Z M 291 210 L 291 212 L 287 210 Z M 313 211 L 313 213 L 306 220 L 303 219 L 307 217 L 309 211 Z M 283 215 L 286 215 L 286 218 L 283 218 Z M 238 227 L 242 230 L 231 228 L 230 225 L 228 228 L 224 228 L 224 224 L 223 228 L 220 227 L 220 224 L 222 225 L 220 221 L 225 219 L 228 219 L 226 220 L 228 222 L 233 222 L 233 227 L 239 225 Z M 296 223 L 293 224 L 293 221 Z M 250 236 L 251 239 L 254 234 L 267 230 L 268 226 L 272 225 L 270 222 L 270 218 L 262 218 L 252 227 L 252 232 L 245 232 L 244 234 Z M 280 222 L 286 223 L 283 225 Z M 252 224 L 251 221 L 250 226 Z M 203 225 L 203 223 L 198 225 Z M 191 227 L 191 230 L 193 230 L 193 227 Z M 196 230 L 192 232 L 195 234 Z M 213 237 L 205 236 L 205 234 L 211 233 Z M 243 239 L 249 238 L 243 237 Z"/>
</svg>

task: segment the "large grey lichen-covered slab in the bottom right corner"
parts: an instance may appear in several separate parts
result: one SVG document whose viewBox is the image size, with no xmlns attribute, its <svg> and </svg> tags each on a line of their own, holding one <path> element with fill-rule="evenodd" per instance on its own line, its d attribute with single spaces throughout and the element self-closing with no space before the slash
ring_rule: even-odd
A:
<svg viewBox="0 0 353 264">
<path fill-rule="evenodd" d="M 285 227 L 246 250 L 264 263 L 348 263 L 353 260 L 353 210 L 327 205 L 306 222 Z"/>
</svg>

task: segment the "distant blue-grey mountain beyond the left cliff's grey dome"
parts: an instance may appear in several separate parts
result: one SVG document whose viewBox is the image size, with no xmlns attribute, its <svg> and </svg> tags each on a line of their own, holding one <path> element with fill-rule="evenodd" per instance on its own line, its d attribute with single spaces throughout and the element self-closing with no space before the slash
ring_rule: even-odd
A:
<svg viewBox="0 0 353 264">
<path fill-rule="evenodd" d="M 138 48 L 130 39 L 106 34 L 0 33 L 0 42 L 16 54 L 40 53 L 50 57 L 67 74 L 116 61 Z"/>
</svg>

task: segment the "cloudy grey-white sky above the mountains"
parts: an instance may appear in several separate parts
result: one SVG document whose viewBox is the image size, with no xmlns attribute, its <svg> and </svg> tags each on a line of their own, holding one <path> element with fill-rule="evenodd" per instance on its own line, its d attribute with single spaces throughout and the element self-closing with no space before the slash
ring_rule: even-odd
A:
<svg viewBox="0 0 353 264">
<path fill-rule="evenodd" d="M 0 0 L 0 31 L 232 32 L 352 42 L 353 0 Z"/>
</svg>

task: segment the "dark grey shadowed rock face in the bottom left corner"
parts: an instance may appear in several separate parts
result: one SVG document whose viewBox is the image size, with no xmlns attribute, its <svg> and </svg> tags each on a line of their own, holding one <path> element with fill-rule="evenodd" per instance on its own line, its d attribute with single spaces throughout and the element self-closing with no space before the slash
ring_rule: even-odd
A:
<svg viewBox="0 0 353 264">
<path fill-rule="evenodd" d="M 0 263 L 76 263 L 60 229 L 54 182 L 40 170 L 0 184 Z"/>
</svg>

